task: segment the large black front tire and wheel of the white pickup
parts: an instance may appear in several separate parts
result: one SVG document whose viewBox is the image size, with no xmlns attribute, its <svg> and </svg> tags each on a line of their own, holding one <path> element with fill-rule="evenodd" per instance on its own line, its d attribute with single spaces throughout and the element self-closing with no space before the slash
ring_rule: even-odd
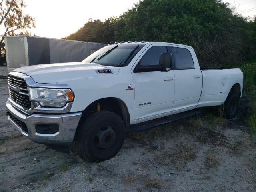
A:
<svg viewBox="0 0 256 192">
<path fill-rule="evenodd" d="M 95 112 L 79 127 L 79 153 L 92 162 L 108 160 L 121 149 L 124 135 L 120 116 L 110 111 Z"/>
</svg>

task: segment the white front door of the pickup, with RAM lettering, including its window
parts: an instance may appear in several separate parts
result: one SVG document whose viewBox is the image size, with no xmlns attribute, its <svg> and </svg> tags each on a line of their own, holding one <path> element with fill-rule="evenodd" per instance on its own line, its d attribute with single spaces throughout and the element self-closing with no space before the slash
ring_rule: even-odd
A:
<svg viewBox="0 0 256 192">
<path fill-rule="evenodd" d="M 159 65 L 161 53 L 167 53 L 166 46 L 151 45 L 140 56 L 137 65 Z M 136 72 L 134 78 L 134 120 L 151 120 L 168 115 L 174 100 L 174 72 Z"/>
</svg>

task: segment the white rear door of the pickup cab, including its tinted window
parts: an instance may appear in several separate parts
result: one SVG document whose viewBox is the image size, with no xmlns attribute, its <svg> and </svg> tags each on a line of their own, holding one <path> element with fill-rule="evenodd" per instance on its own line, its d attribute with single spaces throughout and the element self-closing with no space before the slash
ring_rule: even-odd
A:
<svg viewBox="0 0 256 192">
<path fill-rule="evenodd" d="M 202 72 L 194 51 L 183 46 L 169 46 L 169 51 L 172 53 L 172 70 L 175 76 L 172 111 L 196 108 L 202 91 Z"/>
</svg>

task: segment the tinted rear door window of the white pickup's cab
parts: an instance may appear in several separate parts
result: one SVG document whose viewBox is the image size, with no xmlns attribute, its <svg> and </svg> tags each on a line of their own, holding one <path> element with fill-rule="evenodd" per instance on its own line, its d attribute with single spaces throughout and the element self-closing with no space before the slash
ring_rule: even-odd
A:
<svg viewBox="0 0 256 192">
<path fill-rule="evenodd" d="M 185 48 L 170 47 L 172 53 L 172 68 L 175 69 L 194 69 L 194 62 L 190 51 Z"/>
</svg>

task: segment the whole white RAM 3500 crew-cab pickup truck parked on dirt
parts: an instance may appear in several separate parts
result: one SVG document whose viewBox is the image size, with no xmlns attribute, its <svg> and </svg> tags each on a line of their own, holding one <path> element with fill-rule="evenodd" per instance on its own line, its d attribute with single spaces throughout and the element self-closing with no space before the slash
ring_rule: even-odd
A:
<svg viewBox="0 0 256 192">
<path fill-rule="evenodd" d="M 16 130 L 62 152 L 76 140 L 95 162 L 118 153 L 127 128 L 141 131 L 222 104 L 234 118 L 243 73 L 200 69 L 190 46 L 129 41 L 78 63 L 15 69 L 8 86 L 7 115 Z"/>
</svg>

